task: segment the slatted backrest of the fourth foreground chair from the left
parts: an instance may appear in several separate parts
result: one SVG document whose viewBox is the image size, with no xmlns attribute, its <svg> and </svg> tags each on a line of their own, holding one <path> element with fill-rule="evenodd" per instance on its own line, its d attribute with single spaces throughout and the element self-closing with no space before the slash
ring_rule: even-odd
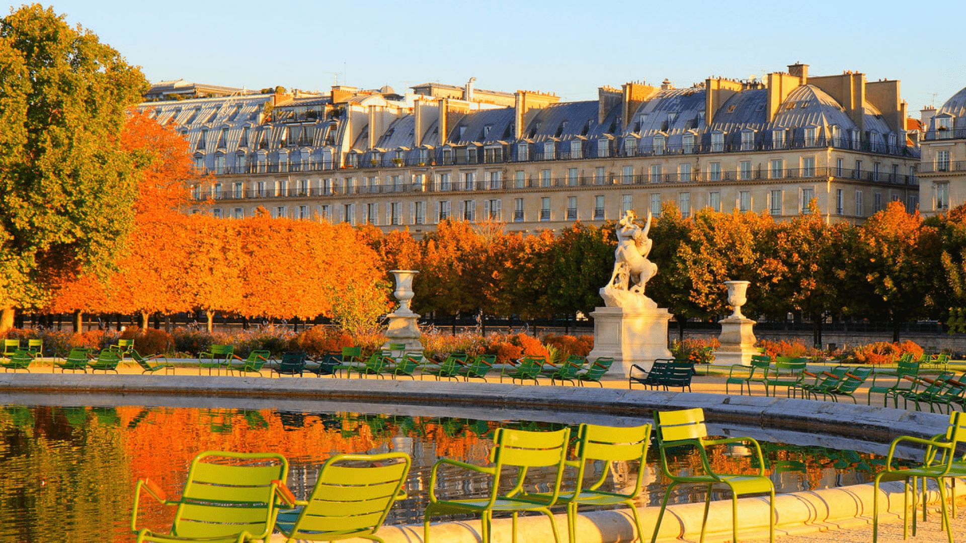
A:
<svg viewBox="0 0 966 543">
<path fill-rule="evenodd" d="M 598 426 L 596 424 L 581 424 L 578 431 L 577 457 L 580 461 L 577 484 L 582 484 L 583 472 L 588 461 L 602 460 L 605 462 L 601 475 L 590 485 L 596 489 L 604 484 L 608 472 L 614 462 L 639 462 L 638 478 L 631 492 L 623 493 L 628 497 L 637 496 L 643 482 L 644 465 L 647 462 L 647 448 L 651 443 L 651 425 L 632 427 Z M 575 495 L 580 494 L 580 488 Z"/>
</svg>

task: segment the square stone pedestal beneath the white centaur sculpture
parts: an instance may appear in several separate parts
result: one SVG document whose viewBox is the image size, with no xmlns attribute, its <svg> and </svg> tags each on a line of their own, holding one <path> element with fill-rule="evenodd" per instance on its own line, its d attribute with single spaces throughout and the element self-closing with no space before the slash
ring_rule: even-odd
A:
<svg viewBox="0 0 966 543">
<path fill-rule="evenodd" d="M 594 349 L 587 359 L 613 357 L 609 375 L 627 377 L 632 364 L 650 369 L 655 358 L 671 358 L 668 351 L 667 309 L 598 307 L 594 318 Z"/>
</svg>

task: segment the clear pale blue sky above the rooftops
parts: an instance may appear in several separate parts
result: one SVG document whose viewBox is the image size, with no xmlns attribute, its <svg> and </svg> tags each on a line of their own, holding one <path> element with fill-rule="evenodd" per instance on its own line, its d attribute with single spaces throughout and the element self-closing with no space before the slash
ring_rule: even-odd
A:
<svg viewBox="0 0 966 543">
<path fill-rule="evenodd" d="M 326 90 L 439 81 L 594 100 L 633 80 L 861 71 L 909 112 L 966 87 L 966 2 L 56 0 L 151 81 Z M 19 6 L 19 4 L 12 4 Z M 945 30 L 943 30 L 945 28 Z M 933 95 L 935 94 L 935 98 Z"/>
</svg>

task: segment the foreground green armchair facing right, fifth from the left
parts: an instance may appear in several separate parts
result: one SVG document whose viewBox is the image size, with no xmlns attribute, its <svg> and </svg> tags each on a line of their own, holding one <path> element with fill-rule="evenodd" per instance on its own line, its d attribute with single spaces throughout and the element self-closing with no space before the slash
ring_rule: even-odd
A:
<svg viewBox="0 0 966 543">
<path fill-rule="evenodd" d="M 704 517 L 701 522 L 701 536 L 699 541 L 704 541 L 704 529 L 707 526 L 708 508 L 711 505 L 711 489 L 714 485 L 726 485 L 731 491 L 731 534 L 732 541 L 738 539 L 738 497 L 742 494 L 769 495 L 769 523 L 768 539 L 775 542 L 775 485 L 771 479 L 765 475 L 765 462 L 761 456 L 761 446 L 752 438 L 727 438 L 723 440 L 709 440 L 707 428 L 704 426 L 704 411 L 700 408 L 688 409 L 683 411 L 655 412 L 654 425 L 658 430 L 658 447 L 661 451 L 661 466 L 665 476 L 670 479 L 670 484 L 665 492 L 664 500 L 661 502 L 661 512 L 658 513 L 657 524 L 654 526 L 654 535 L 651 543 L 657 541 L 658 530 L 661 529 L 661 520 L 664 518 L 665 509 L 668 507 L 668 499 L 671 490 L 682 483 L 700 484 L 707 487 L 707 494 L 704 499 Z M 717 473 L 708 461 L 705 447 L 723 443 L 752 443 L 756 454 L 758 474 L 757 475 L 731 475 Z M 701 459 L 701 474 L 681 475 L 676 466 L 672 466 L 672 461 L 668 459 L 668 448 L 673 447 L 692 447 Z"/>
</svg>

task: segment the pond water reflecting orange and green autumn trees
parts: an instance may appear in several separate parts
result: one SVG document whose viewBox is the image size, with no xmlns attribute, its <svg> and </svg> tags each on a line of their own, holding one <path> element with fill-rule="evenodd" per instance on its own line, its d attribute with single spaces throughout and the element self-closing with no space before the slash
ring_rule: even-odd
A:
<svg viewBox="0 0 966 543">
<path fill-rule="evenodd" d="M 485 464 L 498 426 L 555 430 L 559 423 L 472 420 L 358 413 L 294 413 L 239 409 L 143 407 L 0 407 L 0 542 L 131 541 L 128 533 L 134 482 L 150 477 L 173 496 L 181 494 L 188 464 L 203 450 L 278 452 L 291 463 L 289 486 L 299 496 L 315 484 L 316 472 L 340 452 L 403 451 L 413 465 L 406 490 L 387 524 L 421 522 L 433 463 L 448 457 Z M 575 432 L 576 435 L 576 432 Z M 761 443 L 780 492 L 795 492 L 870 480 L 883 459 L 818 446 Z M 700 462 L 688 448 L 669 450 L 673 469 L 689 472 Z M 740 446 L 718 447 L 719 472 L 753 472 L 754 455 Z M 657 451 L 645 467 L 646 490 L 639 504 L 658 504 L 664 485 Z M 599 475 L 603 466 L 588 470 Z M 612 484 L 633 484 L 638 467 L 614 467 Z M 440 472 L 445 476 L 445 471 Z M 486 478 L 442 480 L 440 498 L 480 496 Z M 544 490 L 553 480 L 545 473 Z M 687 487 L 677 502 L 701 500 Z M 725 496 L 720 496 L 719 499 Z M 145 500 L 139 527 L 166 529 L 173 512 Z"/>
</svg>

